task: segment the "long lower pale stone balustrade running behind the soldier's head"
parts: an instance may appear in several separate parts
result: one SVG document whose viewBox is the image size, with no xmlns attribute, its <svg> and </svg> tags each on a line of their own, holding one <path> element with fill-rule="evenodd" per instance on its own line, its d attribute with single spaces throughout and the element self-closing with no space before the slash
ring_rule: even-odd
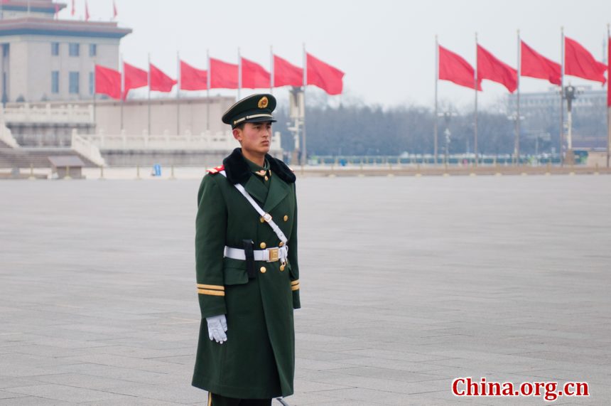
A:
<svg viewBox="0 0 611 406">
<path fill-rule="evenodd" d="M 231 132 L 202 132 L 199 135 L 142 135 L 134 134 L 89 134 L 83 135 L 102 151 L 109 149 L 167 149 L 167 150 L 217 150 L 227 151 L 239 146 Z M 271 141 L 271 149 L 280 150 L 280 134 L 276 133 Z"/>
</svg>

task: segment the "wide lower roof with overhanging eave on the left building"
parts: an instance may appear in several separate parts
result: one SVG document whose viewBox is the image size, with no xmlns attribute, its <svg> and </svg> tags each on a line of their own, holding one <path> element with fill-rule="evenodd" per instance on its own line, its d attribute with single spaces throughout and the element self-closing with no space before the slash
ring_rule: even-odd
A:
<svg viewBox="0 0 611 406">
<path fill-rule="evenodd" d="M 0 37 L 16 35 L 75 36 L 123 38 L 131 28 L 119 28 L 117 23 L 99 21 L 52 20 L 49 18 L 13 18 L 0 20 Z"/>
</svg>

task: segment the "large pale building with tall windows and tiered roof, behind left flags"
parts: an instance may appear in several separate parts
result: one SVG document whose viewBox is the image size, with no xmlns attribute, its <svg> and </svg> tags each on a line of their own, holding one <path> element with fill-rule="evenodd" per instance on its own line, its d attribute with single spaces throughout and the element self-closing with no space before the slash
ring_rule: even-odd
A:
<svg viewBox="0 0 611 406">
<path fill-rule="evenodd" d="M 0 4 L 1 95 L 6 102 L 90 100 L 94 65 L 119 68 L 119 41 L 131 33 L 114 22 L 55 19 L 65 4 Z"/>
</svg>

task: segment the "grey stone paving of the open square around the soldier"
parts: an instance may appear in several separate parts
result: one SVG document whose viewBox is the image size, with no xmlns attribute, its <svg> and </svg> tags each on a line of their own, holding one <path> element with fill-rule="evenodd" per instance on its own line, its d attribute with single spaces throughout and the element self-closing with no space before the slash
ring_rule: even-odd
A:
<svg viewBox="0 0 611 406">
<path fill-rule="evenodd" d="M 205 404 L 197 188 L 0 182 L 0 405 Z M 298 196 L 290 405 L 545 404 L 454 397 L 467 376 L 611 404 L 611 176 L 306 177 Z"/>
</svg>

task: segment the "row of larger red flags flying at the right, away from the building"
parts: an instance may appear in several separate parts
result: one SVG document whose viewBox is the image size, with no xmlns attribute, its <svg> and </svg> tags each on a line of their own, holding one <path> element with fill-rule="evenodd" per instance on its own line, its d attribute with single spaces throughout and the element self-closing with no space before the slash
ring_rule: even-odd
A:
<svg viewBox="0 0 611 406">
<path fill-rule="evenodd" d="M 564 38 L 564 73 L 578 78 L 602 82 L 605 72 L 610 67 L 598 62 L 580 43 Z M 520 75 L 529 78 L 548 80 L 554 85 L 561 85 L 561 65 L 536 52 L 520 41 Z M 611 55 L 611 44 L 609 48 Z M 611 72 L 609 72 L 611 74 Z M 607 74 L 609 78 L 609 74 Z M 439 79 L 449 80 L 457 85 L 476 88 L 475 69 L 460 55 L 439 46 Z M 477 45 L 477 90 L 482 90 L 482 80 L 492 80 L 507 87 L 509 92 L 517 89 L 518 72 L 496 58 L 490 51 Z M 607 104 L 611 106 L 611 91 L 607 96 Z"/>
</svg>

